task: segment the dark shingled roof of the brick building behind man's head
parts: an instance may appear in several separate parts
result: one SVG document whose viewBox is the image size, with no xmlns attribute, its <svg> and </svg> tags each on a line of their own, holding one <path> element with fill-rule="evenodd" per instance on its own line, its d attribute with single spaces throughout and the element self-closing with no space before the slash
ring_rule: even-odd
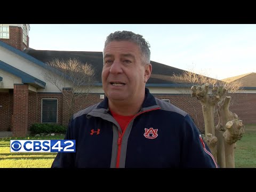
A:
<svg viewBox="0 0 256 192">
<path fill-rule="evenodd" d="M 49 50 L 33 50 L 26 49 L 25 53 L 31 55 L 32 57 L 40 60 L 44 63 L 50 62 L 53 59 L 68 60 L 68 59 L 78 59 L 83 63 L 90 63 L 95 70 L 95 83 L 101 83 L 101 71 L 103 66 L 103 55 L 102 52 L 91 52 L 91 51 L 49 51 Z M 167 66 L 162 63 L 155 61 L 150 62 L 153 71 L 147 82 L 147 85 L 153 84 L 164 84 L 164 86 L 177 84 L 176 80 L 172 77 L 175 73 L 176 75 L 182 74 L 184 70 L 175 67 Z M 185 82 L 182 82 L 185 83 Z M 184 84 L 183 84 L 184 85 Z M 188 86 L 191 86 L 190 84 Z"/>
</svg>

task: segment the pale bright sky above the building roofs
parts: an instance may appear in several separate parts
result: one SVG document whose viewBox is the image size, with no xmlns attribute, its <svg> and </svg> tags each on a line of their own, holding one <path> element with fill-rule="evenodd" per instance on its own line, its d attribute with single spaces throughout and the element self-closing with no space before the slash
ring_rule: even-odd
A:
<svg viewBox="0 0 256 192">
<path fill-rule="evenodd" d="M 217 79 L 256 72 L 256 24 L 30 24 L 29 47 L 103 51 L 117 30 L 142 35 L 151 61 Z"/>
</svg>

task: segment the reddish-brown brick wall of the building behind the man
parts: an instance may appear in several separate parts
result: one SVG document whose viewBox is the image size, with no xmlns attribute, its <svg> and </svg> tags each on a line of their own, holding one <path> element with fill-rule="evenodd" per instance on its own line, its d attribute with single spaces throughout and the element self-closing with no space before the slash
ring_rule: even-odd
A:
<svg viewBox="0 0 256 192">
<path fill-rule="evenodd" d="M 204 130 L 204 119 L 201 103 L 196 98 L 191 98 L 185 94 L 154 94 L 159 99 L 170 99 L 170 103 L 186 111 L 193 119 L 197 127 Z M 41 106 L 43 98 L 58 99 L 58 124 L 67 125 L 69 121 L 69 110 L 61 93 L 28 93 L 28 123 L 27 129 L 33 123 L 41 123 Z M 17 96 L 14 97 L 15 103 Z M 81 97 L 76 101 L 74 113 L 86 107 L 102 101 L 100 94 L 92 93 L 86 98 Z M 20 102 L 20 100 L 19 100 Z M 0 131 L 10 130 L 13 111 L 13 93 L 0 93 Z M 256 123 L 256 94 L 253 93 L 235 93 L 231 94 L 230 111 L 236 113 L 244 124 Z M 9 109 L 8 109 L 9 108 Z M 218 115 L 215 113 L 215 125 L 218 124 Z M 18 117 L 19 123 L 21 117 Z M 14 118 L 17 120 L 17 118 Z M 23 121 L 23 120 L 22 120 Z"/>
</svg>

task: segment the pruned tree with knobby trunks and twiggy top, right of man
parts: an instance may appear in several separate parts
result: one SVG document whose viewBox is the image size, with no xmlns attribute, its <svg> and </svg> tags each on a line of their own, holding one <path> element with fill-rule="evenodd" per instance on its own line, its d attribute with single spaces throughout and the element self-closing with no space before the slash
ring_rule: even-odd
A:
<svg viewBox="0 0 256 192">
<path fill-rule="evenodd" d="M 235 143 L 242 138 L 244 125 L 235 113 L 229 110 L 231 97 L 227 93 L 234 93 L 242 86 L 241 82 L 226 83 L 217 79 L 185 71 L 174 78 L 190 82 L 191 97 L 196 97 L 202 105 L 205 135 L 204 140 L 209 146 L 218 165 L 235 167 Z M 214 110 L 218 109 L 219 123 L 214 125 Z"/>
</svg>

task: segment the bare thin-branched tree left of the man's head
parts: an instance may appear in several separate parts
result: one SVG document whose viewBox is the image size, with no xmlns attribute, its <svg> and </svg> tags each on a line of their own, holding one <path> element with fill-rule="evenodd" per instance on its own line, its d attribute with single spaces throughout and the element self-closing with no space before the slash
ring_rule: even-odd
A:
<svg viewBox="0 0 256 192">
<path fill-rule="evenodd" d="M 49 72 L 45 72 L 45 81 L 55 85 L 62 93 L 69 109 L 69 117 L 74 113 L 75 102 L 87 97 L 92 88 L 94 69 L 88 63 L 78 59 L 61 61 L 54 59 L 46 63 Z"/>
</svg>

